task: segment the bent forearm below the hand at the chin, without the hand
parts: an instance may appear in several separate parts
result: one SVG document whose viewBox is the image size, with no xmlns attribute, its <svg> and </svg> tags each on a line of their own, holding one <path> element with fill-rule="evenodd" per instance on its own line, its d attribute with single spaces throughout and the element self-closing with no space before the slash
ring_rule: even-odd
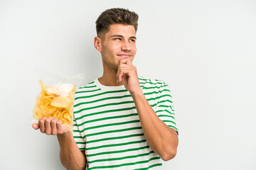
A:
<svg viewBox="0 0 256 170">
<path fill-rule="evenodd" d="M 178 145 L 176 130 L 159 119 L 142 91 L 132 94 L 132 98 L 149 147 L 165 161 L 175 157 Z"/>
</svg>

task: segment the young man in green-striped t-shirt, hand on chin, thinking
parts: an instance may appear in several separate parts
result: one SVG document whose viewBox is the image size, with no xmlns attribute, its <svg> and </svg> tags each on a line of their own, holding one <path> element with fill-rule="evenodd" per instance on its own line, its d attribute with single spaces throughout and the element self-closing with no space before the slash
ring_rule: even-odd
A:
<svg viewBox="0 0 256 170">
<path fill-rule="evenodd" d="M 176 155 L 171 94 L 164 81 L 138 77 L 137 13 L 111 8 L 96 21 L 103 75 L 75 93 L 73 133 L 56 118 L 33 128 L 57 135 L 66 169 L 161 169 Z M 161 159 L 160 159 L 161 157 Z"/>
</svg>

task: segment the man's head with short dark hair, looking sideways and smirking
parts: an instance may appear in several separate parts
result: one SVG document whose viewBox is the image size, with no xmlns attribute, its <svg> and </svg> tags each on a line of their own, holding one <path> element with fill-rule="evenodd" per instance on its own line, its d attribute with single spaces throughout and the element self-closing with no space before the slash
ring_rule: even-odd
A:
<svg viewBox="0 0 256 170">
<path fill-rule="evenodd" d="M 105 70 L 118 69 L 121 59 L 132 62 L 136 55 L 137 13 L 123 8 L 111 8 L 102 12 L 96 21 L 95 48 L 102 55 Z"/>
</svg>

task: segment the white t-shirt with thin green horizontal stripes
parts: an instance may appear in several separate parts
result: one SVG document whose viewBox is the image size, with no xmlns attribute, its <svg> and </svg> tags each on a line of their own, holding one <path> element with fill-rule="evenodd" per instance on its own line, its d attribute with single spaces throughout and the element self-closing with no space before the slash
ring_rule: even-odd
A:
<svg viewBox="0 0 256 170">
<path fill-rule="evenodd" d="M 177 132 L 171 92 L 164 81 L 139 77 L 146 100 Z M 87 169 L 162 169 L 162 160 L 146 142 L 132 96 L 124 86 L 95 79 L 75 93 L 73 136 L 85 150 Z"/>
</svg>

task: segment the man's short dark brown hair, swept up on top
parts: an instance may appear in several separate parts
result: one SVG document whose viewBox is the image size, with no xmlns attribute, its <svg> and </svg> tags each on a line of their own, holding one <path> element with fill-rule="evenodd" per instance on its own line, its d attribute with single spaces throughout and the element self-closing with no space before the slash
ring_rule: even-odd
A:
<svg viewBox="0 0 256 170">
<path fill-rule="evenodd" d="M 110 25 L 115 23 L 122 23 L 124 25 L 134 26 L 135 33 L 138 28 L 138 19 L 139 16 L 133 11 L 129 11 L 124 8 L 110 8 L 103 11 L 100 16 L 97 18 L 96 31 L 97 36 L 100 33 L 107 33 L 110 30 Z"/>
</svg>

